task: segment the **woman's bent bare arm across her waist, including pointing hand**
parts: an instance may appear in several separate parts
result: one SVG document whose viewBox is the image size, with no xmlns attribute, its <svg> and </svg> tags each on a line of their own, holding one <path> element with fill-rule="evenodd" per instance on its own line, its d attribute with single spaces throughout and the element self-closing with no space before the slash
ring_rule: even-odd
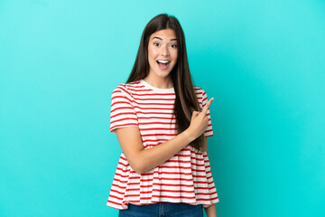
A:
<svg viewBox="0 0 325 217">
<path fill-rule="evenodd" d="M 184 146 L 189 145 L 195 138 L 200 137 L 208 127 L 206 113 L 212 100 L 213 98 L 209 99 L 209 102 L 201 112 L 193 111 L 190 127 L 159 146 L 144 149 L 138 127 L 117 128 L 116 135 L 118 142 L 125 154 L 127 162 L 135 172 L 143 174 L 158 165 L 162 165 L 165 161 L 180 152 Z"/>
</svg>

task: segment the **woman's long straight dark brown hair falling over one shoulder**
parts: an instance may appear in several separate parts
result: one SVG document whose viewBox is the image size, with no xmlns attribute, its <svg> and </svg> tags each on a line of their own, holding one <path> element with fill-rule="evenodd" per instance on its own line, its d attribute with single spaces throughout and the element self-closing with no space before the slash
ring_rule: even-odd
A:
<svg viewBox="0 0 325 217">
<path fill-rule="evenodd" d="M 175 90 L 174 115 L 177 131 L 180 134 L 190 126 L 193 110 L 200 111 L 199 101 L 194 91 L 190 76 L 189 61 L 186 52 L 184 33 L 176 17 L 168 14 L 158 14 L 144 28 L 135 64 L 126 83 L 142 80 L 149 74 L 148 43 L 150 36 L 160 30 L 172 29 L 176 33 L 178 57 L 171 71 L 173 88 Z M 191 142 L 191 146 L 202 150 L 203 134 Z"/>
</svg>

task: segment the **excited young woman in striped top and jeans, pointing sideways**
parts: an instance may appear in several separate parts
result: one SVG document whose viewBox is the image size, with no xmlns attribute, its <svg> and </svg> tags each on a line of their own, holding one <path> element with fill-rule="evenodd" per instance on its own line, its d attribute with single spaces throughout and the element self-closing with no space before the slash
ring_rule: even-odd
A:
<svg viewBox="0 0 325 217">
<path fill-rule="evenodd" d="M 123 153 L 107 206 L 119 216 L 217 216 L 207 153 L 209 99 L 194 87 L 174 16 L 145 26 L 134 68 L 113 91 L 110 131 Z"/>
</svg>

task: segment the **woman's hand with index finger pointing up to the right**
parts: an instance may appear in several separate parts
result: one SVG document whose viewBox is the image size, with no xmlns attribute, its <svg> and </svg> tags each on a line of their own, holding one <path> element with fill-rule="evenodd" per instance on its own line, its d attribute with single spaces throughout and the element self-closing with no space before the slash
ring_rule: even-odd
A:
<svg viewBox="0 0 325 217">
<path fill-rule="evenodd" d="M 188 127 L 186 131 L 186 135 L 190 137 L 190 139 L 194 140 L 197 137 L 200 137 L 202 133 L 207 129 L 209 118 L 207 117 L 207 111 L 213 98 L 209 99 L 205 107 L 202 111 L 193 111 L 192 117 L 190 119 L 190 127 Z"/>
</svg>

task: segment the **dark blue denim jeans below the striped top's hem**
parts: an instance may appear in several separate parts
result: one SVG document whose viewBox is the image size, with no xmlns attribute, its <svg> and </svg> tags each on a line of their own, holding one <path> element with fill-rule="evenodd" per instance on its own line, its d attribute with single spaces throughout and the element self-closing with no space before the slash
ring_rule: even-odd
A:
<svg viewBox="0 0 325 217">
<path fill-rule="evenodd" d="M 119 211 L 118 217 L 203 217 L 203 207 L 187 203 L 129 203 L 126 210 Z"/>
</svg>

